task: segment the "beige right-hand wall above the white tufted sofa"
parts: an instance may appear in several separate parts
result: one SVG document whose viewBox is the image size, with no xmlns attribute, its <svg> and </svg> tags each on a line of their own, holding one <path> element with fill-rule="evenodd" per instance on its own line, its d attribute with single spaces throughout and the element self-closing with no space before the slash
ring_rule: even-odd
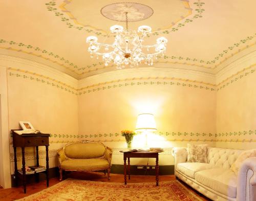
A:
<svg viewBox="0 0 256 201">
<path fill-rule="evenodd" d="M 230 63 L 217 74 L 218 147 L 256 147 L 255 58 L 256 52 L 253 52 Z"/>
</svg>

